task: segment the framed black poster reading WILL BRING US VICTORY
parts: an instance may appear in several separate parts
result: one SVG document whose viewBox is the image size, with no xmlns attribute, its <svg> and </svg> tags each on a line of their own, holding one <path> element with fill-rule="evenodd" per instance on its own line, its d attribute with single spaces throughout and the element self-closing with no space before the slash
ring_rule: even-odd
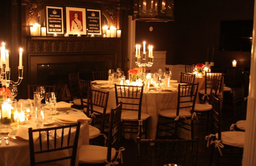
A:
<svg viewBox="0 0 256 166">
<path fill-rule="evenodd" d="M 47 34 L 64 34 L 63 8 L 46 6 Z"/>
</svg>

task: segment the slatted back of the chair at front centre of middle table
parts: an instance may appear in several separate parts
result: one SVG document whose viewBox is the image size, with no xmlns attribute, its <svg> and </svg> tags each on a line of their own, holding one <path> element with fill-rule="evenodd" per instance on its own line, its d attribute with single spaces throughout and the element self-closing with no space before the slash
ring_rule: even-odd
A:
<svg viewBox="0 0 256 166">
<path fill-rule="evenodd" d="M 138 111 L 138 120 L 141 115 L 141 103 L 143 95 L 143 86 L 116 85 L 116 104 L 123 101 L 122 110 Z"/>
</svg>

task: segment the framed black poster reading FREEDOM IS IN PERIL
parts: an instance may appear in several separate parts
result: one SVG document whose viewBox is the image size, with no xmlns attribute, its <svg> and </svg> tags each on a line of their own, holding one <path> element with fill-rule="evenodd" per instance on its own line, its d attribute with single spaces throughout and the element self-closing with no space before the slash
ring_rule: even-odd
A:
<svg viewBox="0 0 256 166">
<path fill-rule="evenodd" d="M 87 9 L 86 11 L 88 34 L 101 35 L 100 10 Z"/>
</svg>

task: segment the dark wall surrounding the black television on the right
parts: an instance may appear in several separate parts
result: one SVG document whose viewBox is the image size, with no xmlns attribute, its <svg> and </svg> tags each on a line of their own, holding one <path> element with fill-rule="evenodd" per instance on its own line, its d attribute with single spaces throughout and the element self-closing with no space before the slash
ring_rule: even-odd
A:
<svg viewBox="0 0 256 166">
<path fill-rule="evenodd" d="M 136 21 L 136 43 L 146 40 L 154 50 L 166 50 L 166 64 L 204 63 L 207 47 L 211 60 L 214 46 L 215 66 L 231 66 L 231 60 L 236 59 L 241 69 L 250 67 L 250 52 L 219 51 L 220 21 L 252 20 L 253 6 L 254 0 L 177 0 L 174 22 Z"/>
</svg>

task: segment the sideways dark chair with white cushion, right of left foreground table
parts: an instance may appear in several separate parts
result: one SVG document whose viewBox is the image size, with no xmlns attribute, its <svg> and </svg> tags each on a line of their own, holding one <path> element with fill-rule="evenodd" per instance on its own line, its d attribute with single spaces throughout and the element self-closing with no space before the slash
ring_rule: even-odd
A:
<svg viewBox="0 0 256 166">
<path fill-rule="evenodd" d="M 121 113 L 122 102 L 120 102 L 116 108 L 111 109 L 110 112 L 108 146 L 82 145 L 79 154 L 79 165 L 100 164 L 106 162 L 109 165 L 118 165 L 118 158 L 121 158 L 122 162 L 122 151 L 124 148 L 119 148 Z"/>
</svg>

